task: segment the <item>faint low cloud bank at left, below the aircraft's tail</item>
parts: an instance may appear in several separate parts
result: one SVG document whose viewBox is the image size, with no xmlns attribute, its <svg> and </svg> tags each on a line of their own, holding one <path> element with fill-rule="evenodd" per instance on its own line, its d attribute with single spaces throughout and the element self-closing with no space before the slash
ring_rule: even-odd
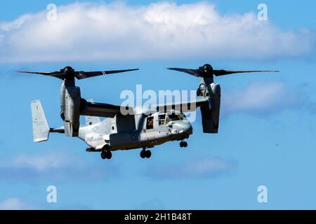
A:
<svg viewBox="0 0 316 224">
<path fill-rule="evenodd" d="M 0 181 L 107 181 L 119 176 L 113 165 L 91 165 L 66 154 L 21 155 L 0 162 Z"/>
</svg>

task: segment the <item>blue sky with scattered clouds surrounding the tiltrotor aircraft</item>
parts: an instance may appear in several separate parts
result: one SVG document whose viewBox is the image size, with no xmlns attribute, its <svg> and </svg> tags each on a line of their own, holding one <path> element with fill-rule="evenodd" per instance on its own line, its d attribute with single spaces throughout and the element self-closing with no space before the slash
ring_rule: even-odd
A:
<svg viewBox="0 0 316 224">
<path fill-rule="evenodd" d="M 61 8 L 54 24 L 44 21 L 48 3 Z M 71 3 L 1 1 L 0 209 L 316 208 L 315 3 L 265 1 L 268 22 L 256 20 L 261 1 Z M 219 134 L 203 134 L 197 113 L 189 147 L 170 142 L 155 147 L 150 160 L 136 150 L 104 161 L 60 134 L 34 144 L 29 104 L 40 99 L 48 123 L 61 125 L 60 81 L 15 73 L 140 68 L 77 82 L 84 97 L 120 104 L 121 91 L 136 84 L 195 90 L 197 78 L 164 68 L 206 62 L 281 72 L 216 78 L 223 91 Z M 58 189 L 56 204 L 46 202 L 50 185 Z M 261 185 L 268 203 L 257 201 Z"/>
</svg>

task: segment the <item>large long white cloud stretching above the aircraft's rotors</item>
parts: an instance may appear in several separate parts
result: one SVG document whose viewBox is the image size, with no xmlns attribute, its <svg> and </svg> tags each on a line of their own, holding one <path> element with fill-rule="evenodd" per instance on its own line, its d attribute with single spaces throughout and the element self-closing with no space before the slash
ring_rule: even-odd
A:
<svg viewBox="0 0 316 224">
<path fill-rule="evenodd" d="M 254 12 L 220 15 L 210 3 L 72 3 L 0 22 L 0 61 L 275 59 L 312 52 L 309 30 L 282 31 Z"/>
</svg>

